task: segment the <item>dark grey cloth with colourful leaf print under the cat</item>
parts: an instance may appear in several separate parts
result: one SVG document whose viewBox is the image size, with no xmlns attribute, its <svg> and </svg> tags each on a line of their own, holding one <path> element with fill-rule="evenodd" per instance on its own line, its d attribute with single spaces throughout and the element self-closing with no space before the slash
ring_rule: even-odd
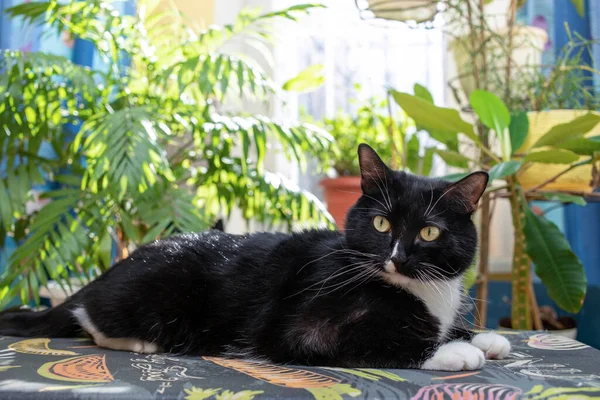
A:
<svg viewBox="0 0 600 400">
<path fill-rule="evenodd" d="M 85 339 L 0 338 L 0 399 L 589 399 L 600 352 L 546 333 L 508 333 L 513 352 L 482 371 L 306 368 L 141 355 Z"/>
</svg>

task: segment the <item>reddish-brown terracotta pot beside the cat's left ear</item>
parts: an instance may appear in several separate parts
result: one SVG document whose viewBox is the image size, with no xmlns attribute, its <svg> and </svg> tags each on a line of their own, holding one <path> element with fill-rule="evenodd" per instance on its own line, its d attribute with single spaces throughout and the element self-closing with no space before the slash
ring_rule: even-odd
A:
<svg viewBox="0 0 600 400">
<path fill-rule="evenodd" d="M 338 229 L 342 231 L 348 210 L 362 194 L 360 176 L 326 178 L 321 180 L 321 186 L 325 194 L 327 210 L 333 216 Z"/>
</svg>

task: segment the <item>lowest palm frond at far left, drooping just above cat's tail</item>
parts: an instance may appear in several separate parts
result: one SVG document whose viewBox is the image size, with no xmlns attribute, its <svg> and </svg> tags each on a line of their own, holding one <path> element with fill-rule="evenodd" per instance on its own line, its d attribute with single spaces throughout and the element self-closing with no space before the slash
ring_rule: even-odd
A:
<svg viewBox="0 0 600 400">
<path fill-rule="evenodd" d="M 60 197 L 35 215 L 27 239 L 8 260 L 0 281 L 0 304 L 17 294 L 23 301 L 39 301 L 36 286 L 45 285 L 48 279 L 70 285 L 71 274 L 80 277 L 82 283 L 95 274 L 101 242 L 97 235 L 106 234 L 109 223 L 105 206 L 98 203 L 97 196 L 78 190 L 54 195 Z"/>
</svg>

